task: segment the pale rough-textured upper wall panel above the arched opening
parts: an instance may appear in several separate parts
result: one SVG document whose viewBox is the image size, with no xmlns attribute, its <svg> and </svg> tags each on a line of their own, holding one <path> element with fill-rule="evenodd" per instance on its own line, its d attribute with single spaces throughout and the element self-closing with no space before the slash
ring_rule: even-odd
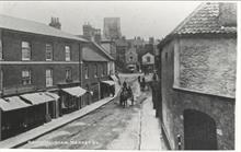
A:
<svg viewBox="0 0 241 152">
<path fill-rule="evenodd" d="M 236 95 L 236 38 L 181 39 L 179 86 L 208 94 Z"/>
</svg>

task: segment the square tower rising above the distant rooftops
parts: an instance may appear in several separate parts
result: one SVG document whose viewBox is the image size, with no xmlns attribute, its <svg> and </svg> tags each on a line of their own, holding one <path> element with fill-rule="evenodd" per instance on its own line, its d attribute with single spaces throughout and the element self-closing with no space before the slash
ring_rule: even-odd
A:
<svg viewBox="0 0 241 152">
<path fill-rule="evenodd" d="M 104 37 L 106 39 L 119 39 L 120 32 L 120 17 L 104 17 Z"/>
</svg>

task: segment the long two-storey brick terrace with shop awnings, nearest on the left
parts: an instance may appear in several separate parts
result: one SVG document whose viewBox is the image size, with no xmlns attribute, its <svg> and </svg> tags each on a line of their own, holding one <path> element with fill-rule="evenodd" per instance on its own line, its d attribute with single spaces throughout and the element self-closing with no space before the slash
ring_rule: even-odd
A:
<svg viewBox="0 0 241 152">
<path fill-rule="evenodd" d="M 90 42 L 60 28 L 56 17 L 46 25 L 0 15 L 1 140 L 87 105 L 82 49 Z"/>
</svg>

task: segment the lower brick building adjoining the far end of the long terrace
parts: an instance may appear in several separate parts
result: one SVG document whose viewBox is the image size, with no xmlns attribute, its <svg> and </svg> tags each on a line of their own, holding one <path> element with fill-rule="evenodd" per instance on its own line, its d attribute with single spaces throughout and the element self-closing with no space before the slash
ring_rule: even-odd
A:
<svg viewBox="0 0 241 152">
<path fill-rule="evenodd" d="M 92 92 L 92 95 L 85 95 L 85 103 L 90 104 L 110 96 L 111 89 L 114 86 L 110 79 L 115 70 L 112 56 L 93 42 L 83 47 L 82 62 L 82 86 Z"/>
</svg>

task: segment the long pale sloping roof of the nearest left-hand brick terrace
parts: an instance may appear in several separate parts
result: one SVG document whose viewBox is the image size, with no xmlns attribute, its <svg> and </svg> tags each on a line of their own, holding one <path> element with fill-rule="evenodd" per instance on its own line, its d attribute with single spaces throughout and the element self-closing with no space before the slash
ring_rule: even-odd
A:
<svg viewBox="0 0 241 152">
<path fill-rule="evenodd" d="M 61 37 L 67 39 L 74 39 L 79 42 L 88 42 L 84 38 L 77 37 L 74 35 L 68 34 L 55 27 L 48 26 L 43 23 L 28 21 L 25 19 L 19 19 L 8 15 L 0 14 L 0 28 L 26 32 L 32 34 L 41 34 L 46 36 Z"/>
</svg>

